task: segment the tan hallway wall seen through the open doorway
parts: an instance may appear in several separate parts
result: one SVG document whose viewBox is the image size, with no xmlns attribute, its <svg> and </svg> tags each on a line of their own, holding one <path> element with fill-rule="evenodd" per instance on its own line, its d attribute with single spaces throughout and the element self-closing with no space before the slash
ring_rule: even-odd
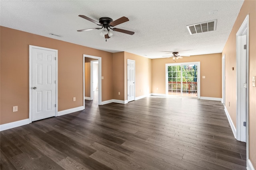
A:
<svg viewBox="0 0 256 170">
<path fill-rule="evenodd" d="M 91 97 L 91 61 L 97 60 L 85 57 L 84 59 L 84 96 Z"/>
</svg>

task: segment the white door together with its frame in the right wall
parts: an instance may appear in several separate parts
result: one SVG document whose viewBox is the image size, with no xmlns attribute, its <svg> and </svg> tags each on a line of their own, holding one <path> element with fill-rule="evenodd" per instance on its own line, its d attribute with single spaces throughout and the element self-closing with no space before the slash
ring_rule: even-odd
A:
<svg viewBox="0 0 256 170">
<path fill-rule="evenodd" d="M 237 93 L 236 93 L 236 139 L 248 140 L 248 74 L 249 74 L 249 15 L 236 33 L 236 66 L 237 66 Z M 248 145 L 246 145 L 248 149 Z M 248 156 L 248 152 L 246 153 Z"/>
</svg>

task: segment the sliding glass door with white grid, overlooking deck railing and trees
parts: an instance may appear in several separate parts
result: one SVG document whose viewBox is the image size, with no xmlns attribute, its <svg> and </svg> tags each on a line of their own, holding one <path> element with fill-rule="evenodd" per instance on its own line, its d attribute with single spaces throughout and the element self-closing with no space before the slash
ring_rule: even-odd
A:
<svg viewBox="0 0 256 170">
<path fill-rule="evenodd" d="M 167 95 L 200 98 L 199 68 L 199 62 L 166 64 Z"/>
</svg>

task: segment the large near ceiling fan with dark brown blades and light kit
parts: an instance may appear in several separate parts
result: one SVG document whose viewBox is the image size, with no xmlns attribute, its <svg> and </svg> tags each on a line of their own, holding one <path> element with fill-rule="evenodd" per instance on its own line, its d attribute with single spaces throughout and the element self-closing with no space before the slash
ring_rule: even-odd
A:
<svg viewBox="0 0 256 170">
<path fill-rule="evenodd" d="M 89 28 L 89 29 L 80 29 L 80 30 L 77 30 L 78 32 L 81 32 L 81 31 L 90 31 L 90 30 L 94 30 L 94 29 L 102 29 L 102 31 L 100 32 L 100 35 L 101 36 L 105 36 L 105 39 L 107 41 L 108 38 L 110 38 L 113 33 L 111 30 L 113 31 L 118 31 L 118 32 L 121 32 L 121 33 L 126 33 L 126 34 L 130 34 L 130 35 L 133 35 L 134 32 L 133 31 L 128 31 L 128 30 L 125 30 L 125 29 L 120 29 L 120 28 L 113 28 L 114 26 L 116 25 L 119 25 L 121 23 L 124 23 L 124 22 L 127 22 L 129 21 L 128 18 L 126 17 L 121 17 L 115 21 L 113 21 L 111 18 L 108 18 L 108 17 L 102 17 L 99 19 L 99 21 L 95 21 L 95 20 L 92 20 L 91 18 L 87 17 L 87 16 L 84 16 L 84 15 L 79 15 L 81 18 L 84 18 L 88 21 L 91 21 L 93 23 L 96 23 L 97 25 L 101 26 L 100 28 Z"/>
</svg>

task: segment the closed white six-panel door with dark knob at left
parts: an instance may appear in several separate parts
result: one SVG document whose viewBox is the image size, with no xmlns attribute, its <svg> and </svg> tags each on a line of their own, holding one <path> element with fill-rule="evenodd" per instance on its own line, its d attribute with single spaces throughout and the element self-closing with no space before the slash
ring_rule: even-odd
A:
<svg viewBox="0 0 256 170">
<path fill-rule="evenodd" d="M 56 51 L 32 48 L 32 121 L 56 115 Z"/>
</svg>

